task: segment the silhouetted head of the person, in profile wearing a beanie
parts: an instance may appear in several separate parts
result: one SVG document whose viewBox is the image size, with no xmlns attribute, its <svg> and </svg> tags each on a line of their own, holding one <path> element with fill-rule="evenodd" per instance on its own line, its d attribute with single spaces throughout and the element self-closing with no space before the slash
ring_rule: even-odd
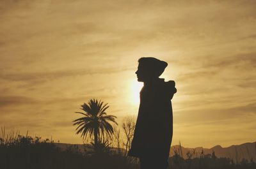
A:
<svg viewBox="0 0 256 169">
<path fill-rule="evenodd" d="M 139 82 L 149 82 L 158 78 L 168 65 L 167 62 L 154 57 L 141 57 L 138 62 L 138 70 L 135 73 Z"/>
</svg>

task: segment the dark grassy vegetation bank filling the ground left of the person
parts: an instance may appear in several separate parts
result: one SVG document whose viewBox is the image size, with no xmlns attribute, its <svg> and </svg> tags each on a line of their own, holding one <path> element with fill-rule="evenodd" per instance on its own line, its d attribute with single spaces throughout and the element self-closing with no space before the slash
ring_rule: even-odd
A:
<svg viewBox="0 0 256 169">
<path fill-rule="evenodd" d="M 110 151 L 86 152 L 68 147 L 61 151 L 51 140 L 20 136 L 0 138 L 0 168 L 71 169 L 71 168 L 138 168 L 134 159 Z"/>
</svg>

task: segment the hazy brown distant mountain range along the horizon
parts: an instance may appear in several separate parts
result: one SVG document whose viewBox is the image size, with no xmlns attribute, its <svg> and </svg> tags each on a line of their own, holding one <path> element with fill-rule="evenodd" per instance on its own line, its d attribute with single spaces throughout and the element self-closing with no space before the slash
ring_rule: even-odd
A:
<svg viewBox="0 0 256 169">
<path fill-rule="evenodd" d="M 54 143 L 57 147 L 60 147 L 61 150 L 70 149 L 70 151 L 92 151 L 92 146 L 90 144 L 70 144 L 70 143 Z M 117 148 L 113 148 L 113 151 L 117 151 Z M 121 152 L 124 152 L 124 149 L 121 149 Z M 203 147 L 196 148 L 185 148 L 180 145 L 173 145 L 170 150 L 170 156 L 174 156 L 175 152 L 182 156 L 182 158 L 188 158 L 188 152 L 192 154 L 191 158 L 198 158 L 200 155 L 207 156 L 207 154 L 215 153 L 215 156 L 218 158 L 230 158 L 234 162 L 241 161 L 243 158 L 250 161 L 256 161 L 256 142 L 253 143 L 243 143 L 241 145 L 231 145 L 230 147 L 221 147 L 216 145 L 211 149 L 205 149 Z"/>
</svg>

